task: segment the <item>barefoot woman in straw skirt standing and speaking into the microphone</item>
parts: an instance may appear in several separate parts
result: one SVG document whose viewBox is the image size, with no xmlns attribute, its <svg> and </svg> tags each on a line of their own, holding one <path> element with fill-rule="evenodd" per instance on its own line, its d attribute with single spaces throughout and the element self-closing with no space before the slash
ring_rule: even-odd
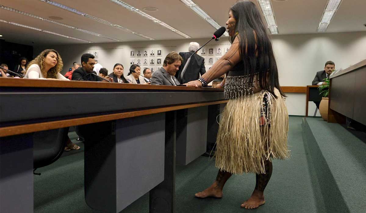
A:
<svg viewBox="0 0 366 213">
<path fill-rule="evenodd" d="M 195 196 L 220 198 L 232 174 L 255 173 L 253 194 L 241 205 L 255 209 L 265 203 L 264 189 L 272 175 L 271 159 L 290 156 L 288 113 L 272 43 L 255 4 L 235 3 L 226 24 L 232 43 L 229 51 L 199 80 L 187 83 L 202 87 L 227 73 L 223 85 L 229 102 L 217 134 L 219 174 L 210 187 Z"/>
</svg>

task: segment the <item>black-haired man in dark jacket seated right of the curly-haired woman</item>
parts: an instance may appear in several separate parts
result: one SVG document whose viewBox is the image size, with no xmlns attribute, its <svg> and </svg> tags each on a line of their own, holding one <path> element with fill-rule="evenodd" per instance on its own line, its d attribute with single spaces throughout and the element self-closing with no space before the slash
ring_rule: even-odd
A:
<svg viewBox="0 0 366 213">
<path fill-rule="evenodd" d="M 72 80 L 80 80 L 80 81 L 102 81 L 97 76 L 97 73 L 93 71 L 95 64 L 94 55 L 90 53 L 85 53 L 81 56 L 81 67 L 75 69 L 72 73 Z M 90 73 L 94 73 L 90 74 Z M 107 77 L 108 78 L 108 77 Z M 112 78 L 109 80 L 113 81 Z"/>
</svg>

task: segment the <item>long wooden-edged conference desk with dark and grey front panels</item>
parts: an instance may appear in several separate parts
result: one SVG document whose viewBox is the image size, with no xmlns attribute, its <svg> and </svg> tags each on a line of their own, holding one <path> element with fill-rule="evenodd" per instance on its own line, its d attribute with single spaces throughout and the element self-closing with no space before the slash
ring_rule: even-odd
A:
<svg viewBox="0 0 366 213">
<path fill-rule="evenodd" d="M 120 212 L 150 191 L 150 212 L 174 212 L 176 155 L 206 151 L 207 108 L 226 102 L 215 88 L 0 79 L 0 212 L 33 212 L 32 134 L 76 125 L 90 208 Z"/>
</svg>

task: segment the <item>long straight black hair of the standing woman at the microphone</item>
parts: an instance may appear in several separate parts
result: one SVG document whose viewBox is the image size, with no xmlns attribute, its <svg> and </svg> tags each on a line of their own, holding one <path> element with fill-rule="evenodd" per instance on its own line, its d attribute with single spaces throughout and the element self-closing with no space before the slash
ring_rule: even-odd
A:
<svg viewBox="0 0 366 213">
<path fill-rule="evenodd" d="M 232 43 L 236 36 L 239 38 L 240 58 L 244 64 L 244 75 L 250 76 L 249 85 L 253 83 L 254 73 L 259 73 L 261 88 L 269 91 L 275 97 L 277 96 L 274 88 L 277 88 L 281 95 L 285 96 L 278 79 L 272 42 L 267 34 L 261 13 L 253 2 L 247 0 L 236 2 L 230 10 L 236 20 L 235 35 L 230 40 Z M 267 75 L 269 75 L 269 82 L 266 81 Z"/>
</svg>

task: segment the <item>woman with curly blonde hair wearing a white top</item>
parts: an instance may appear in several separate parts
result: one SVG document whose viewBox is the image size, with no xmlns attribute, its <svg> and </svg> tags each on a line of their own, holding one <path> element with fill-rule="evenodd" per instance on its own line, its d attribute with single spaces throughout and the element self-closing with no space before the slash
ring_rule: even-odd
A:
<svg viewBox="0 0 366 213">
<path fill-rule="evenodd" d="M 61 75 L 60 71 L 62 70 L 62 67 L 62 59 L 56 50 L 43 50 L 29 63 L 24 78 L 69 81 L 69 79 Z"/>
</svg>

